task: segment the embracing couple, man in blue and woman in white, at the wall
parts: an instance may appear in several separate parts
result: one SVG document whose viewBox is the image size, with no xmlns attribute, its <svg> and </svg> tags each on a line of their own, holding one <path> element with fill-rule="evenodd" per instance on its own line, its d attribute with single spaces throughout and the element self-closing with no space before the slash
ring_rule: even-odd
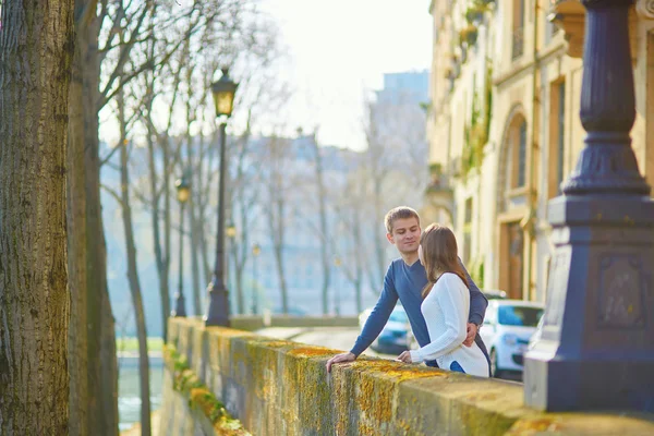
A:
<svg viewBox="0 0 654 436">
<path fill-rule="evenodd" d="M 421 347 L 404 351 L 399 361 L 488 377 L 491 362 L 479 335 L 488 301 L 461 264 L 452 231 L 431 225 L 421 233 L 417 213 L 405 206 L 391 209 L 385 225 L 386 238 L 401 257 L 388 267 L 379 300 L 354 347 L 331 358 L 327 371 L 365 351 L 399 299 Z"/>
</svg>

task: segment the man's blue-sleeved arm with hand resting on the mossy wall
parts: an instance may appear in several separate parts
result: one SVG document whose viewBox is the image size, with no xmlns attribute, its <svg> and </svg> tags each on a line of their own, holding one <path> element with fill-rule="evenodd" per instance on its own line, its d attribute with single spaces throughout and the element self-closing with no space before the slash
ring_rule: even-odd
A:
<svg viewBox="0 0 654 436">
<path fill-rule="evenodd" d="M 377 304 L 375 304 L 375 308 L 373 308 L 373 312 L 371 312 L 365 320 L 361 335 L 356 338 L 356 342 L 354 342 L 354 347 L 352 347 L 352 350 L 348 353 L 337 354 L 329 359 L 327 361 L 328 373 L 331 372 L 331 365 L 334 363 L 352 362 L 355 360 L 382 332 L 382 329 L 388 322 L 388 318 L 398 302 L 398 293 L 392 281 L 391 268 L 392 264 L 389 265 L 386 276 L 384 277 L 384 289 L 377 300 Z"/>
</svg>

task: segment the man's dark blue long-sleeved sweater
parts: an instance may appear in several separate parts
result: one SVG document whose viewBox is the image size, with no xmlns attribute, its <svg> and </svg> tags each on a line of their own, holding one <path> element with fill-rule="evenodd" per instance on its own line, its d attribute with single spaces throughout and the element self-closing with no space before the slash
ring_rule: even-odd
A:
<svg viewBox="0 0 654 436">
<path fill-rule="evenodd" d="M 461 264 L 461 266 L 463 265 Z M 468 281 L 470 283 L 469 322 L 481 325 L 484 320 L 488 301 L 472 281 L 470 275 L 465 270 L 465 267 L 463 267 L 463 270 L 465 271 L 465 276 L 468 277 Z M 404 311 L 407 312 L 409 323 L 411 324 L 411 329 L 413 330 L 413 335 L 415 336 L 417 343 L 420 343 L 421 347 L 428 344 L 431 342 L 429 334 L 427 331 L 425 318 L 420 310 L 423 301 L 421 295 L 422 290 L 426 284 L 427 275 L 425 272 L 425 267 L 422 266 L 419 261 L 409 266 L 402 258 L 395 259 L 389 265 L 386 276 L 384 277 L 384 290 L 382 291 L 382 295 L 379 295 L 379 300 L 377 300 L 375 308 L 365 322 L 361 335 L 359 338 L 356 338 L 356 342 L 350 351 L 354 355 L 359 355 L 364 352 L 365 349 L 371 346 L 371 343 L 373 343 L 373 341 L 382 332 L 386 322 L 388 322 L 390 313 L 395 308 L 398 299 L 400 299 L 402 306 L 404 306 Z M 488 353 L 479 332 L 475 338 L 475 342 L 477 346 L 480 346 L 482 351 L 484 351 L 484 354 L 487 359 Z M 434 362 L 428 362 L 428 364 L 429 366 L 435 366 Z"/>
</svg>

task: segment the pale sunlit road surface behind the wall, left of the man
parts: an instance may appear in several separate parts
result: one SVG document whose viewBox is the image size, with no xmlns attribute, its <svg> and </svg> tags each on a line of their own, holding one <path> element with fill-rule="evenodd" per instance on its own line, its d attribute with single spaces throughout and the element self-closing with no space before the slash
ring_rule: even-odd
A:
<svg viewBox="0 0 654 436">
<path fill-rule="evenodd" d="M 349 351 L 356 337 L 359 328 L 356 327 L 296 327 L 296 328 L 264 328 L 256 331 L 257 335 L 271 338 L 292 340 L 293 342 L 306 343 L 310 346 L 320 346 L 336 350 Z M 374 355 L 383 359 L 395 359 L 397 355 L 376 353 L 370 348 L 363 352 L 365 355 Z"/>
</svg>

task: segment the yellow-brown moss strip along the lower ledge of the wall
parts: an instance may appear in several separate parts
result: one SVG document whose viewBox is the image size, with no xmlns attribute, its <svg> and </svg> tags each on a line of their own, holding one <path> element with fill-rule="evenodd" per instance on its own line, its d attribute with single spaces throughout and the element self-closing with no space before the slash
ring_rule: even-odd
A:
<svg viewBox="0 0 654 436">
<path fill-rule="evenodd" d="M 204 413 L 211 422 L 216 435 L 250 435 L 243 428 L 241 422 L 229 415 L 225 409 L 225 404 L 191 371 L 186 358 L 181 355 L 174 346 L 164 346 L 164 362 L 172 374 L 173 389 L 189 400 L 191 408 L 195 408 Z"/>
</svg>

